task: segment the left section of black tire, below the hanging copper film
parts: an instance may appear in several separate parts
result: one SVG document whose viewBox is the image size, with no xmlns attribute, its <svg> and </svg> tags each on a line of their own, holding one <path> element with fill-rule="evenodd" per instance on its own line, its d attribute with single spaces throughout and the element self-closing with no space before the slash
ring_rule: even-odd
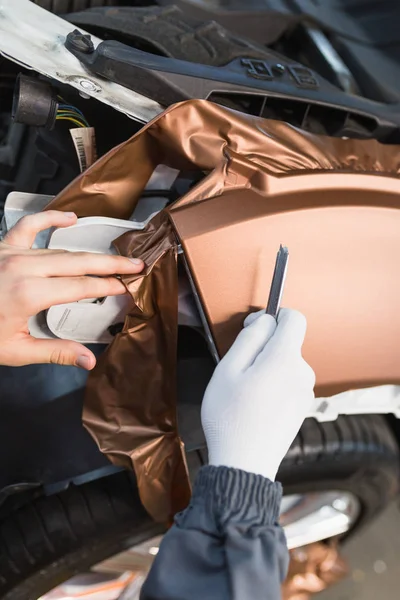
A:
<svg viewBox="0 0 400 600">
<path fill-rule="evenodd" d="M 0 523 L 0 598 L 37 600 L 162 531 L 125 472 L 38 498 Z"/>
</svg>

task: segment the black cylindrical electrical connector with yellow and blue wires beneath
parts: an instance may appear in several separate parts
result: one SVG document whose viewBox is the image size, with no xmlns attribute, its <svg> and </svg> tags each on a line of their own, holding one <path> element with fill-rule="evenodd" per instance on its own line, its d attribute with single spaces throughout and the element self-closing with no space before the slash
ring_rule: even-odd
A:
<svg viewBox="0 0 400 600">
<path fill-rule="evenodd" d="M 15 123 L 53 129 L 57 116 L 57 92 L 46 81 L 20 73 L 14 90 Z"/>
</svg>

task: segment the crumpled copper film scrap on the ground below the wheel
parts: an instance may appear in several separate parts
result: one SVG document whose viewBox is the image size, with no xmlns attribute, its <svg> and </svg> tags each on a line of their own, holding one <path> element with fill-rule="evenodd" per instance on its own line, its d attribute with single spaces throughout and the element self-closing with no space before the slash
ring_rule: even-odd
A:
<svg viewBox="0 0 400 600">
<path fill-rule="evenodd" d="M 348 574 L 336 542 L 310 544 L 290 551 L 282 600 L 309 600 L 310 596 L 338 583 Z"/>
</svg>

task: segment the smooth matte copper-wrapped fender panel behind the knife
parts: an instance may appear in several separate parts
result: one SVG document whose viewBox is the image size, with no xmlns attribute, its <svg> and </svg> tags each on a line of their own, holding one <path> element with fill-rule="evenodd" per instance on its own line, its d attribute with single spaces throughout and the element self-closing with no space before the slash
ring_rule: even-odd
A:
<svg viewBox="0 0 400 600">
<path fill-rule="evenodd" d="M 376 177 L 361 190 L 358 176 L 336 189 L 312 178 L 300 193 L 291 178 L 293 189 L 268 202 L 225 192 L 212 201 L 211 226 L 207 203 L 172 212 L 220 355 L 244 316 L 266 305 L 282 243 L 290 251 L 283 305 L 307 317 L 303 355 L 317 395 L 400 382 L 398 192 Z"/>
</svg>

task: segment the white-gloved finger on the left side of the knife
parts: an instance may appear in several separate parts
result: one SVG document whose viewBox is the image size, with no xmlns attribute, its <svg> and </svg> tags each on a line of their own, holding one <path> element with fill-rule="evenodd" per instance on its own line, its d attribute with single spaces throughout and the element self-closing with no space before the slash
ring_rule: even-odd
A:
<svg viewBox="0 0 400 600">
<path fill-rule="evenodd" d="M 233 370 L 244 371 L 256 360 L 276 330 L 276 321 L 264 313 L 242 329 L 233 346 L 221 361 Z"/>
</svg>

